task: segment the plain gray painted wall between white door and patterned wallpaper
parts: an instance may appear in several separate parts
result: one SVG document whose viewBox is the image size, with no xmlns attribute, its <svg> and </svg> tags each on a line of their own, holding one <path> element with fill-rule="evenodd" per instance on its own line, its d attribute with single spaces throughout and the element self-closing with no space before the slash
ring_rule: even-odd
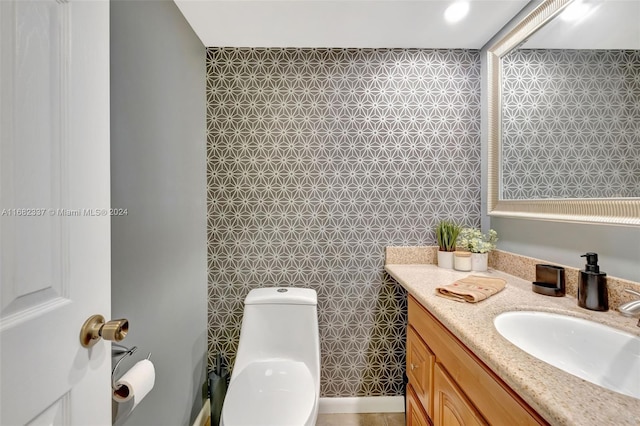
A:
<svg viewBox="0 0 640 426">
<path fill-rule="evenodd" d="M 128 209 L 112 220 L 112 314 L 139 348 L 124 369 L 148 352 L 156 367 L 119 424 L 190 425 L 203 404 L 205 111 L 205 49 L 176 5 L 111 2 L 111 203 Z"/>
</svg>

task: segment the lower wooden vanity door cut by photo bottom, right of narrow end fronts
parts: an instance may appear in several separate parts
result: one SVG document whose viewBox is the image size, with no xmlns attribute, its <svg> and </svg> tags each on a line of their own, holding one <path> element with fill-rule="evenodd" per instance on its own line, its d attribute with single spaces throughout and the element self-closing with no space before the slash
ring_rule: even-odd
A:
<svg viewBox="0 0 640 426">
<path fill-rule="evenodd" d="M 487 424 L 440 363 L 434 366 L 433 376 L 433 423 L 435 426 Z"/>
</svg>

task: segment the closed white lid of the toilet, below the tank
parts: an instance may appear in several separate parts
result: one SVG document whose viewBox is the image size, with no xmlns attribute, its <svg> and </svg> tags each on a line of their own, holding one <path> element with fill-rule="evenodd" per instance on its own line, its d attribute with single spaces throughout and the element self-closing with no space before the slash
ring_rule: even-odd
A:
<svg viewBox="0 0 640 426">
<path fill-rule="evenodd" d="M 304 426 L 315 393 L 302 362 L 252 362 L 229 385 L 222 419 L 225 426 Z"/>
</svg>

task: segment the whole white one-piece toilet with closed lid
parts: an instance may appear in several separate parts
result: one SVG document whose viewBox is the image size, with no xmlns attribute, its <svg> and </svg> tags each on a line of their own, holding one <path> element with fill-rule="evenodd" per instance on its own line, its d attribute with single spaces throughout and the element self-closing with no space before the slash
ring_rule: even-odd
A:
<svg viewBox="0 0 640 426">
<path fill-rule="evenodd" d="M 315 425 L 320 394 L 317 304 L 311 289 L 249 292 L 222 425 Z"/>
</svg>

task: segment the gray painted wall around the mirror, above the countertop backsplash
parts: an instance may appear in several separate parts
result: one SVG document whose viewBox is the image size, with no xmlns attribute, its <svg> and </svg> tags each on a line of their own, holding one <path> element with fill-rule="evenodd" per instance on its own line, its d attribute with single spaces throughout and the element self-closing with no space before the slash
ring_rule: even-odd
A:
<svg viewBox="0 0 640 426">
<path fill-rule="evenodd" d="M 496 35 L 482 50 L 482 78 L 487 81 L 486 50 L 513 28 L 540 3 L 532 1 L 514 20 Z M 640 281 L 640 227 L 596 225 L 580 223 L 545 222 L 527 219 L 487 217 L 486 164 L 487 164 L 487 93 L 482 94 L 482 163 L 483 163 L 483 226 L 498 231 L 498 248 L 525 256 L 556 262 L 567 266 L 584 266 L 581 254 L 593 251 L 599 254 L 601 270 L 607 274 Z"/>
</svg>

